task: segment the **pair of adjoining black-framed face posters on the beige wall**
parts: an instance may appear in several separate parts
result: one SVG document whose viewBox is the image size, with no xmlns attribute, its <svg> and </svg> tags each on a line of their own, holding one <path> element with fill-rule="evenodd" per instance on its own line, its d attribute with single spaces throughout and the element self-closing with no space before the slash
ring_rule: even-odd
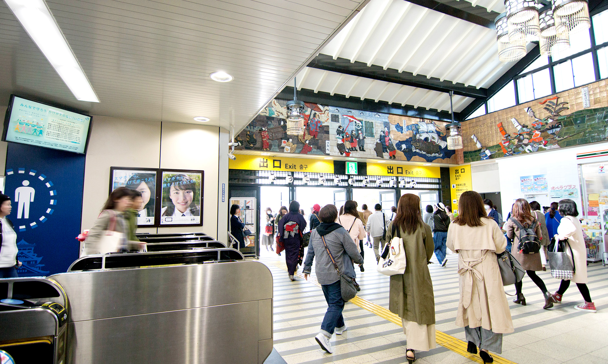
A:
<svg viewBox="0 0 608 364">
<path fill-rule="evenodd" d="M 109 193 L 118 187 L 142 192 L 144 208 L 137 227 L 202 226 L 204 174 L 203 170 L 110 167 Z"/>
</svg>

